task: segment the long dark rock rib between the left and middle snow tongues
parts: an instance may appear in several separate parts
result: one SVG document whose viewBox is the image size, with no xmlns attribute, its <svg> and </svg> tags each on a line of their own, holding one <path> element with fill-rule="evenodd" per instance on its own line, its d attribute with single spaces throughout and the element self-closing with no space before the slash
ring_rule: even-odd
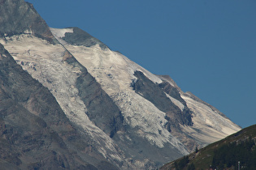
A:
<svg viewBox="0 0 256 170">
<path fill-rule="evenodd" d="M 124 130 L 124 117 L 111 97 L 102 90 L 101 85 L 88 73 L 75 57 L 67 57 L 65 62 L 80 68 L 81 74 L 76 80 L 79 96 L 84 101 L 91 121 L 111 138 L 118 130 Z"/>
</svg>

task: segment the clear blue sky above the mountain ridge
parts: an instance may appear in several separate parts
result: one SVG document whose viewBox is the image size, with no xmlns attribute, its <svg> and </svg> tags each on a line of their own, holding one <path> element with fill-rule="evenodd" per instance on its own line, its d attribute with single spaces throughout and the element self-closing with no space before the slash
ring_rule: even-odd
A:
<svg viewBox="0 0 256 170">
<path fill-rule="evenodd" d="M 81 28 L 237 125 L 256 124 L 255 0 L 27 2 L 51 28 Z"/>
</svg>

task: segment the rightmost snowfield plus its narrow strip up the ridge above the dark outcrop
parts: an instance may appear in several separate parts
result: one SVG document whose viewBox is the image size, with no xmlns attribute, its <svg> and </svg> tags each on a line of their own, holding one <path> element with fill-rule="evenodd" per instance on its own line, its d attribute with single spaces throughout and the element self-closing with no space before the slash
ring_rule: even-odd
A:
<svg viewBox="0 0 256 170">
<path fill-rule="evenodd" d="M 230 134 L 241 130 L 239 125 L 234 124 L 223 113 L 210 104 L 200 100 L 191 92 L 183 92 L 180 87 L 168 76 L 158 76 L 175 87 L 180 92 L 188 108 L 192 111 L 193 126 L 181 125 L 180 128 L 189 137 L 193 138 L 200 147 L 216 142 Z M 180 139 L 182 140 L 182 139 Z"/>
</svg>

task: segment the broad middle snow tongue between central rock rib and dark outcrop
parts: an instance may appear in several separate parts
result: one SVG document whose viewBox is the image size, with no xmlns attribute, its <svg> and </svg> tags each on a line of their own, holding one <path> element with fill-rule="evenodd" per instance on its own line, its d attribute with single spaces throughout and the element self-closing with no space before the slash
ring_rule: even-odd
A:
<svg viewBox="0 0 256 170">
<path fill-rule="evenodd" d="M 58 35 L 54 34 L 54 36 Z M 154 83 L 162 83 L 161 79 L 121 53 L 101 49 L 99 45 L 91 47 L 65 45 L 65 48 L 101 84 L 103 90 L 119 106 L 128 125 L 137 127 L 138 135 L 146 138 L 152 145 L 164 147 L 164 143 L 169 142 L 181 153 L 185 155 L 189 153 L 184 145 L 164 128 L 167 122 L 164 118 L 165 113 L 138 95 L 131 87 L 132 79 L 137 79 L 133 75 L 136 70 L 143 72 Z"/>
</svg>

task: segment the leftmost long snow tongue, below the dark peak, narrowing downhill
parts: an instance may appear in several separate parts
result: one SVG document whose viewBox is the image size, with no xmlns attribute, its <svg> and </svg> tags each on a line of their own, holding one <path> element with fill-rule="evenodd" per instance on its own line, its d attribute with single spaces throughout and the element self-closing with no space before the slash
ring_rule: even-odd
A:
<svg viewBox="0 0 256 170">
<path fill-rule="evenodd" d="M 79 69 L 62 62 L 66 52 L 62 45 L 50 45 L 31 35 L 12 36 L 7 41 L 0 39 L 0 43 L 24 70 L 49 88 L 67 117 L 82 128 L 82 133 L 91 136 L 103 156 L 119 161 L 124 159 L 116 151 L 112 139 L 86 115 L 87 108 L 76 89 Z"/>
</svg>

